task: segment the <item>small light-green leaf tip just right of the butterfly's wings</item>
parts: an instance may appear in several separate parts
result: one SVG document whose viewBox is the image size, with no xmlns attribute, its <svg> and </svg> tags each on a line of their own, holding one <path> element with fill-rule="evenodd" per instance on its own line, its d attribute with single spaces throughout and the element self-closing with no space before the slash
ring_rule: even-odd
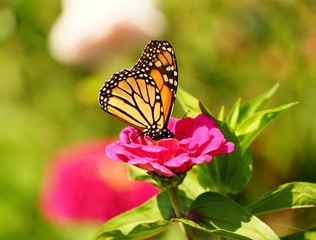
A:
<svg viewBox="0 0 316 240">
<path fill-rule="evenodd" d="M 201 113 L 199 100 L 197 98 L 193 97 L 180 87 L 178 87 L 177 96 L 184 112 L 188 113 L 187 115 L 189 117 L 196 117 Z"/>
</svg>

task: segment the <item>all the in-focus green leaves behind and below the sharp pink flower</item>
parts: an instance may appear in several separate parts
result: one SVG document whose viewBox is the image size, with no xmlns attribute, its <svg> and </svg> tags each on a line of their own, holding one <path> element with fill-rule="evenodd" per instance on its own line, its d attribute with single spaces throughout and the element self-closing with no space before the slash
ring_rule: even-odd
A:
<svg viewBox="0 0 316 240">
<path fill-rule="evenodd" d="M 175 222 L 183 223 L 186 231 L 191 232 L 191 237 L 194 236 L 192 239 L 200 239 L 199 236 L 203 236 L 201 239 L 211 239 L 214 236 L 228 239 L 280 239 L 255 215 L 284 209 L 315 207 L 316 184 L 284 184 L 263 194 L 247 207 L 242 207 L 226 197 L 228 194 L 240 193 L 250 179 L 250 144 L 272 120 L 295 104 L 261 110 L 277 88 L 278 85 L 275 85 L 271 90 L 242 105 L 240 100 L 237 100 L 227 116 L 222 107 L 221 121 L 215 119 L 198 99 L 180 89 L 178 99 L 184 111 L 188 111 L 188 115 L 193 117 L 202 112 L 213 117 L 226 139 L 235 143 L 235 151 L 220 155 L 209 164 L 195 166 L 188 172 L 181 185 L 185 193 L 183 204 L 185 209 L 188 209 L 187 218 L 173 216 L 168 198 L 163 198 L 161 204 L 159 198 L 166 197 L 163 192 L 157 198 L 106 223 L 95 239 L 150 237 L 166 230 Z M 307 236 L 307 232 L 302 232 L 284 239 L 295 239 L 305 234 Z M 309 235 L 312 233 L 309 232 Z"/>
</svg>

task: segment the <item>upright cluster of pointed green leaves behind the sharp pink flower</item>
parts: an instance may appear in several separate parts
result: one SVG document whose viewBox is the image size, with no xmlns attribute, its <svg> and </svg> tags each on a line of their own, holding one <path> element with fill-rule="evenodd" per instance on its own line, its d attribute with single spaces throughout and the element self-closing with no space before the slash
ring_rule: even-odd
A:
<svg viewBox="0 0 316 240">
<path fill-rule="evenodd" d="M 277 88 L 278 84 L 243 105 L 240 105 L 238 99 L 228 116 L 225 116 L 224 111 L 221 110 L 219 118 L 222 121 L 215 119 L 198 99 L 180 89 L 181 94 L 178 99 L 184 111 L 189 111 L 190 116 L 203 112 L 214 118 L 226 139 L 235 143 L 233 153 L 216 157 L 212 164 L 197 166 L 198 178 L 205 190 L 236 194 L 246 186 L 252 172 L 250 144 L 273 119 L 296 104 L 290 103 L 268 110 L 260 110 Z"/>
</svg>

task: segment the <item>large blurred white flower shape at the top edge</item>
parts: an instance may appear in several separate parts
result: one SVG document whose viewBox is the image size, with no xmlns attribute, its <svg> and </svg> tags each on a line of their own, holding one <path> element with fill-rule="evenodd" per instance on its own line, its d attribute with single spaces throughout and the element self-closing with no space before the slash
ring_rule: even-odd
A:
<svg viewBox="0 0 316 240">
<path fill-rule="evenodd" d="M 90 64 L 118 45 L 159 36 L 164 28 L 154 0 L 63 0 L 49 46 L 56 60 Z"/>
</svg>

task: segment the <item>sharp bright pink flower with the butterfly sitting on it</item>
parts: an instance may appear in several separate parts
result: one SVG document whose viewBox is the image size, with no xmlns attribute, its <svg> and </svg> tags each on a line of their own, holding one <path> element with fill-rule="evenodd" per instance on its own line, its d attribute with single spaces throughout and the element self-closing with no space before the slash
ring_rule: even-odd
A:
<svg viewBox="0 0 316 240">
<path fill-rule="evenodd" d="M 226 141 L 215 121 L 203 114 L 195 119 L 171 118 L 169 130 L 175 133 L 175 138 L 155 142 L 127 127 L 119 141 L 106 147 L 106 154 L 150 173 L 174 177 L 196 164 L 210 162 L 213 156 L 234 151 L 234 144 Z"/>
</svg>

